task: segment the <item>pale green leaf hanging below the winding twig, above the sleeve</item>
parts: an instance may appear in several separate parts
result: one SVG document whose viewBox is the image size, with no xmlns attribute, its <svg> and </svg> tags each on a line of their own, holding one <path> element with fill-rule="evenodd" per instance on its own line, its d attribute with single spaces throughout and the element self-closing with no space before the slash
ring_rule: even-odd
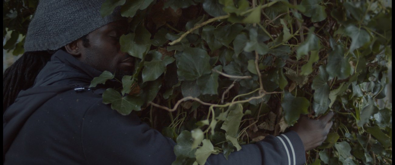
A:
<svg viewBox="0 0 395 165">
<path fill-rule="evenodd" d="M 222 130 L 225 130 L 231 137 L 236 137 L 237 131 L 239 130 L 241 118 L 243 117 L 243 106 L 241 104 L 235 104 L 229 107 L 228 117 L 221 126 Z"/>
</svg>

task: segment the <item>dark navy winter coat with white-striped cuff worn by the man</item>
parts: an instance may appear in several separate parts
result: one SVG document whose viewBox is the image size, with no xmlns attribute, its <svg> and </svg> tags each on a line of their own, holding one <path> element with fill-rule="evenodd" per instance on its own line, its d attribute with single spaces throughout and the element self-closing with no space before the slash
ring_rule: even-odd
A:
<svg viewBox="0 0 395 165">
<path fill-rule="evenodd" d="M 59 50 L 3 115 L 4 165 L 170 165 L 176 143 L 134 112 L 102 103 L 104 89 L 76 92 L 101 74 Z M 3 89 L 4 90 L 4 89 Z M 291 131 L 242 145 L 207 165 L 302 165 L 305 150 Z"/>
</svg>

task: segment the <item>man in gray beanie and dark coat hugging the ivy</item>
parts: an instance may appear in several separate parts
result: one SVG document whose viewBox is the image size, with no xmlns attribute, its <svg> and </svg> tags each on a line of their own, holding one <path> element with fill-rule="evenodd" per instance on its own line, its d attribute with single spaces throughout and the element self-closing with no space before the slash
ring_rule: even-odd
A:
<svg viewBox="0 0 395 165">
<path fill-rule="evenodd" d="M 40 1 L 26 35 L 26 53 L 3 76 L 5 165 L 170 165 L 175 161 L 173 140 L 150 129 L 133 112 L 123 116 L 102 103 L 101 94 L 111 82 L 87 88 L 104 70 L 122 76 L 133 69 L 134 59 L 121 52 L 119 44 L 127 22 L 119 8 L 102 18 L 102 2 Z M 44 50 L 56 52 L 51 56 Z M 19 93 L 16 99 L 15 93 Z M 228 160 L 223 154 L 211 155 L 206 164 L 304 164 L 305 150 L 325 140 L 332 116 L 301 117 L 290 132 L 243 145 Z"/>
</svg>

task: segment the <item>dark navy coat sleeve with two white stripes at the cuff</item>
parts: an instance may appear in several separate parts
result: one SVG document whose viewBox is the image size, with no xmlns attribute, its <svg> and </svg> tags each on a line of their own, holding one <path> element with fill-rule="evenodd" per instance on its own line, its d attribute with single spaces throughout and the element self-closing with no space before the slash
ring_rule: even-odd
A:
<svg viewBox="0 0 395 165">
<path fill-rule="evenodd" d="M 81 143 L 91 165 L 171 165 L 176 143 L 151 129 L 137 115 L 122 116 L 101 101 L 87 110 Z M 212 154 L 206 165 L 302 165 L 305 150 L 295 132 L 267 136 L 255 144 L 242 145 L 228 160 Z"/>
</svg>

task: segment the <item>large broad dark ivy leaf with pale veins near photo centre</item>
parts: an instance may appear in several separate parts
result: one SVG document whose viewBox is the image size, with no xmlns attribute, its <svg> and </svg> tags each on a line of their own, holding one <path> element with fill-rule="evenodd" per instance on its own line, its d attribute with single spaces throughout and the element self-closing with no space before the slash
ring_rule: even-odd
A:
<svg viewBox="0 0 395 165">
<path fill-rule="evenodd" d="M 185 48 L 175 58 L 179 80 L 192 81 L 211 72 L 210 56 L 201 48 Z"/>
</svg>

